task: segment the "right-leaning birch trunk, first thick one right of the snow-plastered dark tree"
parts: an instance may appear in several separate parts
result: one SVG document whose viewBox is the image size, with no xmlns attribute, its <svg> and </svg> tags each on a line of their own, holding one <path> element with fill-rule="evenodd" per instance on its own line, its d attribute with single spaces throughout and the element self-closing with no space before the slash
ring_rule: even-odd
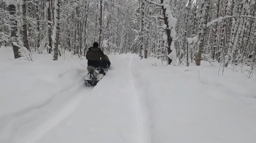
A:
<svg viewBox="0 0 256 143">
<path fill-rule="evenodd" d="M 196 66 L 200 66 L 201 64 L 201 56 L 203 51 L 204 35 L 206 33 L 206 25 L 207 25 L 207 20 L 209 15 L 209 7 L 210 7 L 210 0 L 205 0 L 205 15 L 204 15 L 204 20 L 202 25 L 201 38 L 199 41 L 199 50 L 197 55 L 195 56 Z"/>
</svg>

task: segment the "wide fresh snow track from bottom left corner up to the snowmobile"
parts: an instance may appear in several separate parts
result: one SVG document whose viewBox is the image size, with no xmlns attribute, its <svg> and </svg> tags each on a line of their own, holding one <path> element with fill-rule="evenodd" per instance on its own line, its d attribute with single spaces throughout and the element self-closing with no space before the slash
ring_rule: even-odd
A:
<svg viewBox="0 0 256 143">
<path fill-rule="evenodd" d="M 47 101 L 0 118 L 0 143 L 35 143 L 66 118 L 91 88 L 77 82 L 53 94 Z M 31 130 L 33 129 L 33 130 Z"/>
</svg>

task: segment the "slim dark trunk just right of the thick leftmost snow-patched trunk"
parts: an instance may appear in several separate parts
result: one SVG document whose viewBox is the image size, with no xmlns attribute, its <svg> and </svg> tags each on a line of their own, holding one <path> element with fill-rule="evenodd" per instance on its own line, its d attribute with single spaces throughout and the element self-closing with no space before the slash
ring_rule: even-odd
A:
<svg viewBox="0 0 256 143">
<path fill-rule="evenodd" d="M 23 33 L 23 42 L 24 42 L 24 47 L 26 47 L 28 50 L 29 44 L 28 44 L 28 34 L 27 34 L 27 10 L 26 10 L 26 0 L 22 0 L 22 14 L 23 14 L 23 25 L 22 25 L 22 33 Z"/>
</svg>

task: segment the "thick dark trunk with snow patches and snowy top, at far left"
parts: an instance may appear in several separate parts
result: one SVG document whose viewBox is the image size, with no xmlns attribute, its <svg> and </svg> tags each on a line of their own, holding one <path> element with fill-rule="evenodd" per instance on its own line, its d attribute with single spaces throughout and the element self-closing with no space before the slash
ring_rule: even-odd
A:
<svg viewBox="0 0 256 143">
<path fill-rule="evenodd" d="M 17 27 L 17 17 L 16 17 L 16 6 L 14 4 L 8 5 L 9 17 L 10 17 L 10 41 L 13 47 L 14 58 L 17 59 L 21 57 L 18 47 L 18 27 Z"/>
</svg>

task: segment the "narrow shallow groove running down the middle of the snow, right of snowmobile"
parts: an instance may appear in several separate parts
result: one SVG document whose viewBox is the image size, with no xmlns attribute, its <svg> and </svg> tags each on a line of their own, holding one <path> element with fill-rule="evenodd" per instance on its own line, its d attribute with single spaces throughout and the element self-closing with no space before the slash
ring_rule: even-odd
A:
<svg viewBox="0 0 256 143">
<path fill-rule="evenodd" d="M 137 143 L 151 143 L 151 123 L 150 123 L 150 116 L 148 113 L 148 109 L 143 102 L 142 96 L 138 93 L 135 87 L 135 78 L 132 74 L 132 61 L 134 57 L 130 58 L 129 61 L 129 83 L 131 85 L 131 90 L 133 91 L 134 95 L 134 102 L 137 108 L 137 131 L 138 131 L 138 139 Z"/>
</svg>

